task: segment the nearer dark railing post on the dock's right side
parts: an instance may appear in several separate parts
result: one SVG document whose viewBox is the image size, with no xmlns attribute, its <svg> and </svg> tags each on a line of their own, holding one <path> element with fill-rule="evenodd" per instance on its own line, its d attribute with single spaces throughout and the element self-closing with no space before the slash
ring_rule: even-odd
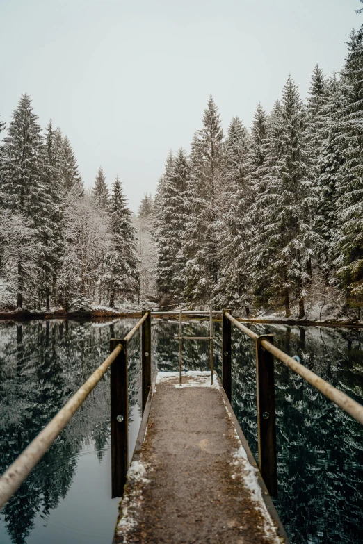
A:
<svg viewBox="0 0 363 544">
<path fill-rule="evenodd" d="M 256 340 L 257 425 L 259 442 L 259 471 L 268 493 L 277 497 L 275 376 L 273 355 L 264 349 L 261 340 L 273 344 L 273 334 L 263 334 Z"/>
</svg>

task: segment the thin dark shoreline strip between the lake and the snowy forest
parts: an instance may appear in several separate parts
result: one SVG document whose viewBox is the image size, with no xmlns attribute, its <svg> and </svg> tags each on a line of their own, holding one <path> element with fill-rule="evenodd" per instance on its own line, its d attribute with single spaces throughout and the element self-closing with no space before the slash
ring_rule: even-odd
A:
<svg viewBox="0 0 363 544">
<path fill-rule="evenodd" d="M 158 312 L 155 310 L 154 312 Z M 197 313 L 197 312 L 196 312 Z M 154 318 L 162 318 L 163 312 L 155 313 Z M 1 311 L 0 320 L 20 321 L 26 322 L 31 320 L 84 320 L 84 321 L 112 321 L 113 319 L 129 318 L 138 319 L 141 318 L 140 311 L 108 311 L 95 309 L 92 311 L 79 311 L 79 312 L 65 312 L 64 310 L 56 311 Z M 188 320 L 193 320 L 191 315 L 187 316 Z M 363 321 L 357 320 L 306 320 L 306 319 L 291 319 L 291 318 L 276 318 L 276 319 L 264 319 L 264 318 L 241 318 L 235 315 L 236 320 L 243 323 L 257 323 L 257 324 L 282 324 L 290 327 L 346 327 L 348 329 L 360 329 L 363 328 Z M 200 316 L 198 320 L 207 320 L 209 317 Z M 168 315 L 168 320 L 179 320 L 179 315 Z M 218 318 L 216 319 L 218 320 Z"/>
</svg>

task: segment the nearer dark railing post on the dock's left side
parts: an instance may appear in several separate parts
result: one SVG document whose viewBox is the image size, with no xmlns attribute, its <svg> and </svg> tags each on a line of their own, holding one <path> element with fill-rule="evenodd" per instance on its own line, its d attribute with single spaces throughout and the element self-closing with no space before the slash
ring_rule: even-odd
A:
<svg viewBox="0 0 363 544">
<path fill-rule="evenodd" d="M 122 345 L 111 365 L 111 471 L 112 498 L 122 497 L 129 468 L 129 391 L 127 378 L 127 340 L 111 338 L 110 350 Z"/>
</svg>

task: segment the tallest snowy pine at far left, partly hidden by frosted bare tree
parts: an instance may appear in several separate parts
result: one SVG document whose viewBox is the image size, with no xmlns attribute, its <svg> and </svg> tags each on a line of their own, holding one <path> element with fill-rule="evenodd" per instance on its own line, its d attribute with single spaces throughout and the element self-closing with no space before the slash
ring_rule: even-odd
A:
<svg viewBox="0 0 363 544">
<path fill-rule="evenodd" d="M 3 140 L 2 188 L 6 208 L 22 213 L 29 229 L 35 230 L 42 224 L 43 156 L 38 116 L 33 113 L 29 95 L 24 94 Z M 24 290 L 35 289 L 38 267 L 21 255 L 16 266 L 17 307 L 22 308 Z"/>
</svg>

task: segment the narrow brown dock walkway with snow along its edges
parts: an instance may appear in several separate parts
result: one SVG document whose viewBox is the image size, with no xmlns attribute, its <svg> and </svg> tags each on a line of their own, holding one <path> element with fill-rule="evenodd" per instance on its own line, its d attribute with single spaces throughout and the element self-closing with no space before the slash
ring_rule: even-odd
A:
<svg viewBox="0 0 363 544">
<path fill-rule="evenodd" d="M 216 374 L 157 374 L 113 542 L 289 542 Z"/>
</svg>

